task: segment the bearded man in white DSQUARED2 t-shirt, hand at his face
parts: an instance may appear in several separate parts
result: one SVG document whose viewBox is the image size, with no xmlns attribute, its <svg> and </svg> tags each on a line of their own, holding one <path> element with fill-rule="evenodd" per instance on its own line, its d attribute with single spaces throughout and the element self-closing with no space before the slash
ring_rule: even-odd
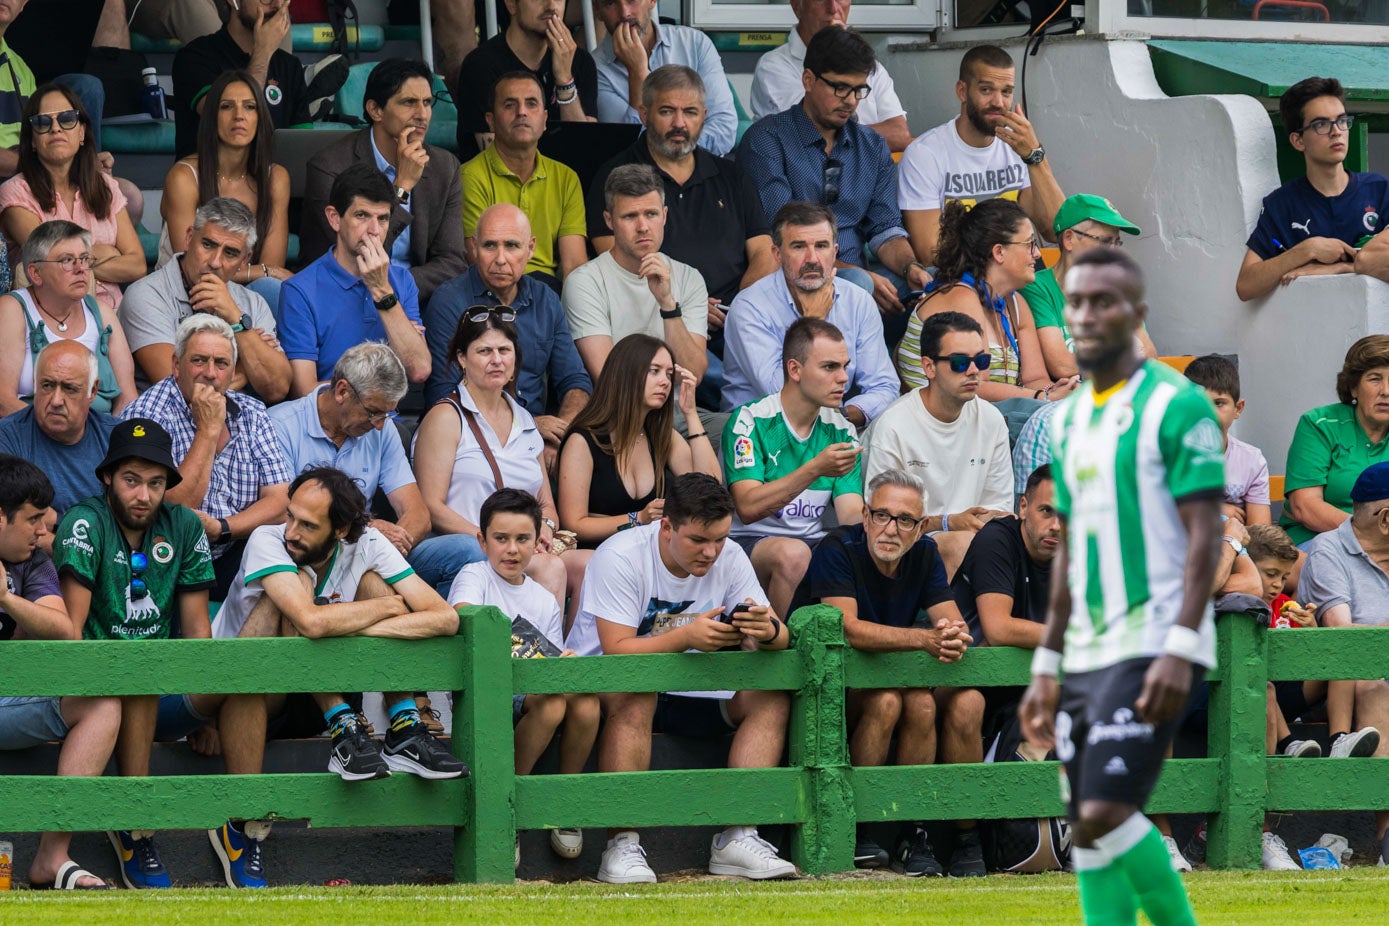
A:
<svg viewBox="0 0 1389 926">
<path fill-rule="evenodd" d="M 907 146 L 897 164 L 897 205 L 917 260 L 935 262 L 940 210 L 1017 200 L 1038 229 L 1050 229 L 1065 196 L 1036 131 L 1013 106 L 1013 58 L 997 46 L 970 49 L 960 61 L 960 115 Z"/>
</svg>

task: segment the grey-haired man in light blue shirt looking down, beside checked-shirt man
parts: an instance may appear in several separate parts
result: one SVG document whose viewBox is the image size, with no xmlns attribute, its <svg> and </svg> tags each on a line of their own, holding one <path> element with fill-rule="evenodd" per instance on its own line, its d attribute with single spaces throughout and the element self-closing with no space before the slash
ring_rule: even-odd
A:
<svg viewBox="0 0 1389 926">
<path fill-rule="evenodd" d="M 338 358 L 328 385 L 269 410 L 292 472 L 333 466 L 347 473 L 368 501 L 376 489 L 386 493 L 396 521 L 378 518 L 371 526 L 403 557 L 429 533 L 429 510 L 390 421 L 404 394 L 400 358 L 386 344 L 367 342 Z"/>
</svg>

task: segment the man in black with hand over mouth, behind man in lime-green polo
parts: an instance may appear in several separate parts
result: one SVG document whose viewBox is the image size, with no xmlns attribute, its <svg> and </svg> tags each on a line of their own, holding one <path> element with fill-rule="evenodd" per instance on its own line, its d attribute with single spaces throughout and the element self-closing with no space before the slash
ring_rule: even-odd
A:
<svg viewBox="0 0 1389 926">
<path fill-rule="evenodd" d="M 547 122 L 594 122 L 599 71 L 593 56 L 564 24 L 564 0 L 506 0 L 511 22 L 468 53 L 458 68 L 458 160 L 486 147 L 492 131 L 492 85 L 503 74 L 529 71 L 540 81 Z"/>
</svg>

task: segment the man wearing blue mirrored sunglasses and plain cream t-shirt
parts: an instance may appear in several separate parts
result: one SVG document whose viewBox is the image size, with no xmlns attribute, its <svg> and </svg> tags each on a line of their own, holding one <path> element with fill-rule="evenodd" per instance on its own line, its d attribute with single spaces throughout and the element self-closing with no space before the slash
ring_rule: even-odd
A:
<svg viewBox="0 0 1389 926">
<path fill-rule="evenodd" d="M 989 364 L 976 321 L 961 312 L 926 317 L 921 326 L 926 385 L 895 401 L 864 437 L 868 479 L 904 469 L 925 485 L 926 532 L 951 576 L 974 534 L 1013 512 L 1008 425 L 978 398 Z"/>
</svg>

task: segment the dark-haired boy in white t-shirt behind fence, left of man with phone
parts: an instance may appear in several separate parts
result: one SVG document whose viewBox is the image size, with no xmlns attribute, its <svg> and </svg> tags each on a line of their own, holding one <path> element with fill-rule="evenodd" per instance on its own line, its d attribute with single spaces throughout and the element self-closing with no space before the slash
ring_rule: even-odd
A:
<svg viewBox="0 0 1389 926">
<path fill-rule="evenodd" d="M 525 575 L 540 536 L 540 503 L 519 489 L 500 489 L 482 503 L 478 543 L 488 557 L 463 568 L 449 589 L 454 608 L 486 604 L 508 618 L 525 618 L 536 630 L 563 648 L 564 616 L 554 596 Z M 560 655 L 574 655 L 564 650 Z M 513 694 L 511 723 L 515 727 L 515 773 L 529 775 L 554 732 L 564 723 L 560 740 L 560 775 L 578 775 L 588 765 L 599 734 L 596 694 Z M 583 830 L 550 830 L 550 848 L 563 858 L 583 851 Z"/>
</svg>

